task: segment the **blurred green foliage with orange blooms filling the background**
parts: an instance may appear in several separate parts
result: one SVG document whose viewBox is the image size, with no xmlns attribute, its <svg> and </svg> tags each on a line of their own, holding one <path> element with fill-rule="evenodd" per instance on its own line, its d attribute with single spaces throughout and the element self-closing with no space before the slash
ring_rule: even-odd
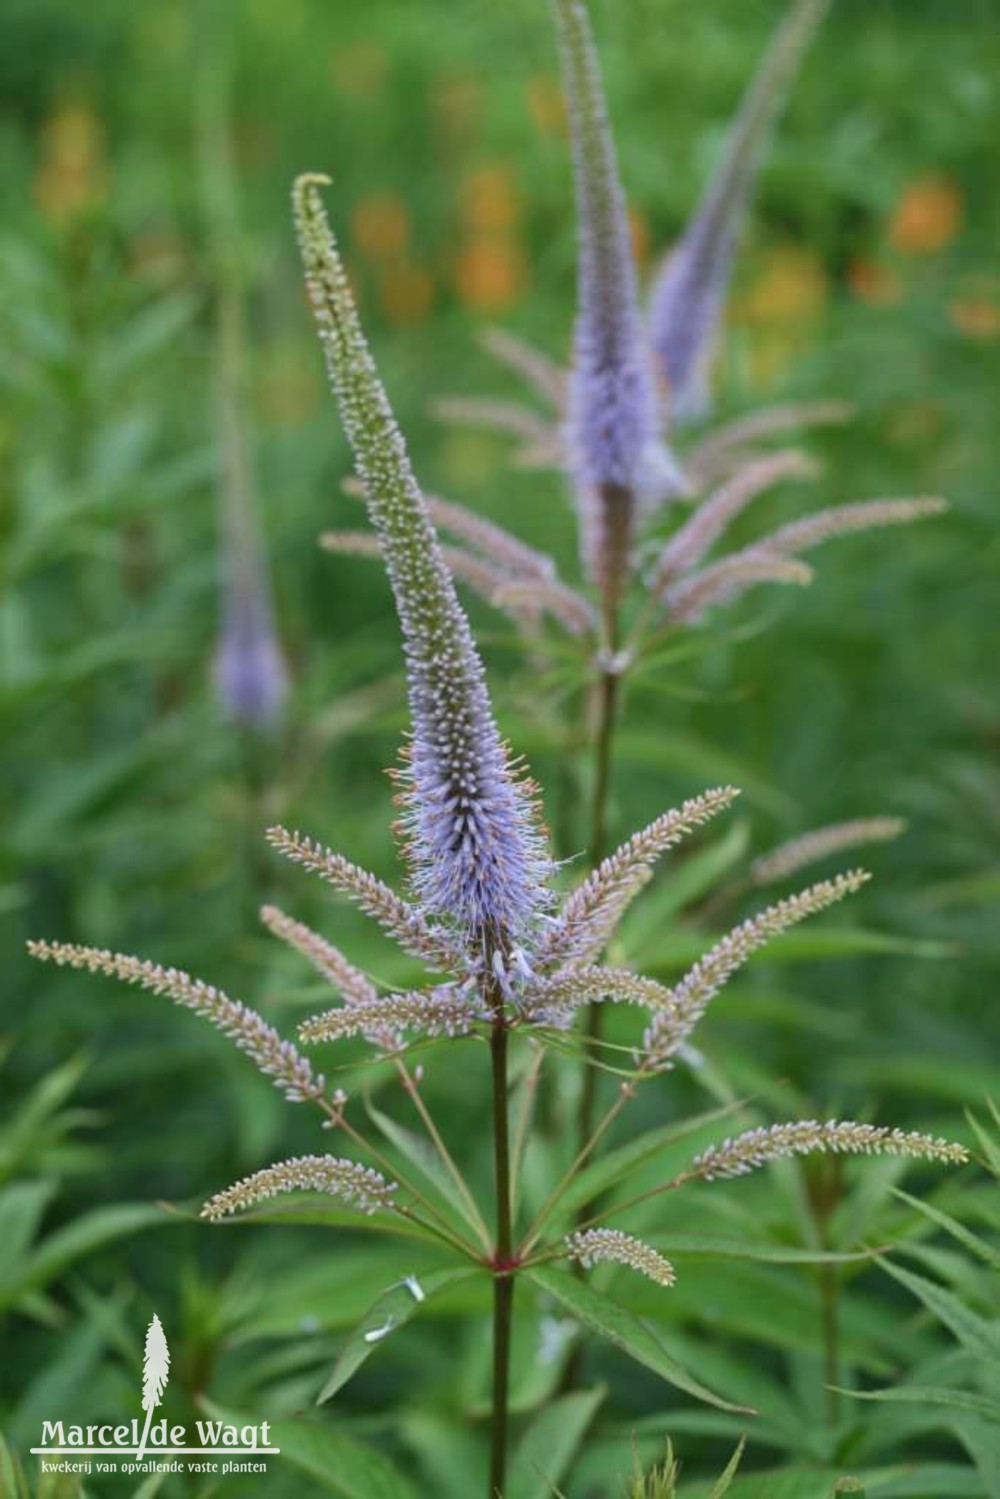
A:
<svg viewBox="0 0 1000 1499">
<path fill-rule="evenodd" d="M 649 264 L 684 222 L 778 6 L 594 9 Z M 840 0 L 763 177 L 720 372 L 724 411 L 787 394 L 858 402 L 859 420 L 820 444 L 826 501 L 940 492 L 954 511 L 838 543 L 805 597 L 748 606 L 745 628 L 637 679 L 613 808 L 625 832 L 720 773 L 750 793 L 736 833 L 703 865 L 681 865 L 651 896 L 652 914 L 637 913 L 645 926 L 627 932 L 630 950 L 663 973 L 697 950 L 691 913 L 750 847 L 841 817 L 907 817 L 909 835 L 876 856 L 879 880 L 850 913 L 858 925 L 789 940 L 787 962 L 753 968 L 720 1001 L 705 1042 L 709 1060 L 724 1055 L 733 1087 L 768 1108 L 886 1105 L 894 1120 L 952 1132 L 963 1106 L 981 1106 L 996 1084 L 1000 1040 L 990 1003 L 1000 892 L 988 627 L 1000 561 L 996 37 L 993 0 Z M 262 739 L 223 721 L 210 684 L 220 267 L 201 172 L 205 100 L 229 66 L 238 232 L 226 274 L 247 318 L 243 394 L 294 676 L 286 723 Z M 255 910 L 283 893 L 330 922 L 259 833 L 276 817 L 298 821 L 391 871 L 382 769 L 403 717 L 381 576 L 315 546 L 351 507 L 303 307 L 291 178 L 334 178 L 363 316 L 421 477 L 561 556 L 573 528 L 559 483 L 508 471 L 502 442 L 441 429 L 427 405 L 457 390 L 513 393 L 477 349 L 489 322 L 564 357 L 574 231 L 553 39 L 537 0 L 438 12 L 406 0 L 7 0 L 0 97 L 10 1045 L 0 1409 L 24 1451 L 43 1414 L 132 1411 L 151 1309 L 175 1358 L 168 1409 L 192 1418 L 207 1397 L 288 1415 L 312 1403 L 385 1286 L 432 1268 L 349 1238 L 331 1256 L 306 1225 L 208 1231 L 147 1207 L 198 1202 L 279 1142 L 307 1148 L 310 1132 L 195 1019 L 34 970 L 21 946 L 51 935 L 148 953 L 229 985 L 279 1022 L 309 1000 Z M 558 805 L 571 851 L 583 838 L 583 747 L 537 712 L 531 675 L 495 619 L 477 622 L 504 724 Z M 334 925 L 339 943 L 385 971 L 361 917 L 337 908 Z M 85 1063 L 69 1060 L 84 1052 Z M 435 1106 L 468 1118 L 481 1079 L 445 1075 L 435 1060 L 430 1049 Z M 670 1117 L 700 1106 L 693 1082 L 670 1087 Z M 649 1109 L 646 1123 L 663 1123 Z M 486 1169 L 486 1141 L 469 1141 L 468 1154 Z M 903 1408 L 825 1403 L 814 1270 L 727 1259 L 726 1240 L 748 1225 L 792 1261 L 820 1232 L 843 1253 L 930 1234 L 915 1207 L 888 1196 L 894 1180 L 892 1163 L 846 1172 L 832 1198 L 792 1168 L 736 1183 L 685 1219 L 690 1259 L 666 1310 L 663 1298 L 633 1294 L 699 1375 L 762 1409 L 733 1499 L 819 1499 L 862 1469 L 874 1475 L 871 1495 L 1000 1495 L 996 1427 L 984 1445 L 982 1418 L 966 1420 L 966 1432 L 978 1421 L 972 1442 L 958 1421 L 930 1432 Z M 825 1201 L 835 1208 L 817 1217 Z M 963 1178 L 936 1201 L 961 1217 L 985 1199 Z M 682 1235 L 661 1235 L 661 1247 L 684 1256 Z M 936 1253 L 934 1268 L 961 1279 L 946 1250 Z M 843 1283 L 844 1379 L 886 1385 L 948 1360 L 948 1339 L 912 1316 L 889 1277 L 852 1262 Z M 984 1303 L 978 1283 L 970 1294 Z M 486 1307 L 474 1288 L 439 1306 L 366 1366 L 324 1424 L 289 1430 L 292 1456 L 271 1469 L 268 1495 L 330 1492 L 330 1472 L 351 1471 L 355 1439 L 394 1454 L 423 1492 L 466 1492 L 463 1475 L 480 1460 Z M 996 1337 L 996 1294 L 979 1312 Z M 528 1321 L 525 1304 L 525 1418 L 550 1393 Z M 739 1423 L 672 1396 L 664 1405 L 652 1376 L 595 1357 L 594 1378 L 606 1369 L 613 1399 L 600 1414 L 576 1412 L 585 1451 L 567 1480 L 573 1499 L 625 1492 L 633 1433 L 648 1462 L 673 1438 L 678 1495 L 712 1492 L 715 1480 L 699 1475 L 723 1471 Z M 447 1420 L 454 1409 L 460 1424 Z M 930 1465 L 922 1478 L 907 1478 L 909 1459 Z M 768 1489 L 745 1477 L 762 1465 L 777 1475 Z"/>
</svg>

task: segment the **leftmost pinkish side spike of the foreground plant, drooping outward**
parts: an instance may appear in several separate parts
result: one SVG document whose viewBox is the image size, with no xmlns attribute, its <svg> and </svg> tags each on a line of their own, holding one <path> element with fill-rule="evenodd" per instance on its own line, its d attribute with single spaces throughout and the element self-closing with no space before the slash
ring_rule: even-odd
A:
<svg viewBox="0 0 1000 1499">
<path fill-rule="evenodd" d="M 204 1015 L 217 1030 L 229 1036 L 261 1072 L 274 1079 L 286 1099 L 298 1103 L 324 1096 L 325 1079 L 313 1075 L 307 1058 L 255 1010 L 241 1000 L 231 1000 L 213 983 L 192 979 L 180 968 L 162 968 L 157 962 L 121 952 L 106 952 L 103 947 L 78 947 L 61 941 L 30 941 L 27 947 L 33 958 L 40 958 L 43 962 L 87 968 L 90 973 L 120 979 L 123 983 L 138 983 L 151 994 L 165 994 L 177 1004 Z"/>
</svg>

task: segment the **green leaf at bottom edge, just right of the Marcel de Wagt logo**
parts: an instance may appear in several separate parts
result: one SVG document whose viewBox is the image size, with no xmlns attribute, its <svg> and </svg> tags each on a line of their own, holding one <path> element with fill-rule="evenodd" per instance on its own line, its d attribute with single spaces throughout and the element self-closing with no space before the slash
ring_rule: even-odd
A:
<svg viewBox="0 0 1000 1499">
<path fill-rule="evenodd" d="M 201 1405 L 217 1421 L 235 1426 L 259 1423 L 259 1415 L 226 1411 L 211 1400 Z M 319 1421 L 279 1420 L 271 1421 L 270 1429 L 270 1445 L 282 1450 L 280 1459 L 273 1462 L 301 1469 L 318 1480 L 327 1493 L 340 1499 L 420 1499 L 388 1457 L 334 1427 Z"/>
</svg>

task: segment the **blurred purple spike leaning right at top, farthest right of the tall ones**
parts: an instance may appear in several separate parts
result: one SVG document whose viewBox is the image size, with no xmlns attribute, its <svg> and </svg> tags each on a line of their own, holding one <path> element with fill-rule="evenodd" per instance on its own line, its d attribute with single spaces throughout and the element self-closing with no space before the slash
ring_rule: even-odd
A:
<svg viewBox="0 0 1000 1499">
<path fill-rule="evenodd" d="M 768 127 L 829 0 L 796 0 L 750 85 L 702 201 L 657 279 L 651 339 L 670 391 L 672 418 L 708 408 L 708 355 Z"/>
</svg>

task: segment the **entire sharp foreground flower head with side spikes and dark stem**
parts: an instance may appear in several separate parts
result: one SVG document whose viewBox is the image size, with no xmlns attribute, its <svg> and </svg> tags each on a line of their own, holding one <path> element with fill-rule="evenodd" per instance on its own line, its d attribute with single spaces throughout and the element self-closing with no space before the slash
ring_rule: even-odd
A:
<svg viewBox="0 0 1000 1499">
<path fill-rule="evenodd" d="M 352 899 L 406 953 L 429 970 L 424 986 L 381 992 L 322 934 L 265 907 L 264 923 L 331 986 L 340 1003 L 300 1027 L 303 1042 L 367 1037 L 378 1060 L 397 1070 L 420 1114 L 441 1171 L 456 1192 L 445 1211 L 355 1126 L 343 1093 L 327 1094 L 324 1079 L 259 1015 L 222 991 L 175 968 L 64 943 L 34 941 L 36 958 L 108 974 L 163 994 L 229 1034 L 256 1066 L 295 1100 L 316 1105 L 324 1126 L 354 1144 L 361 1160 L 301 1156 L 255 1172 L 216 1193 L 205 1216 L 255 1207 L 274 1195 L 333 1195 L 361 1214 L 385 1213 L 408 1234 L 430 1237 L 486 1267 L 495 1286 L 495 1424 L 490 1493 L 502 1492 L 510 1298 L 514 1276 L 540 1261 L 574 1256 L 615 1261 L 670 1285 L 672 1267 L 655 1250 L 597 1214 L 570 1240 L 558 1228 L 564 1183 L 573 1180 L 637 1087 L 682 1054 L 711 1000 L 766 941 L 853 893 L 861 872 L 802 890 L 736 926 L 709 947 L 691 971 L 666 986 L 598 962 L 634 896 L 657 862 L 684 836 L 724 811 L 730 787 L 693 797 L 664 812 L 580 880 L 558 905 L 555 863 L 544 844 L 532 796 L 508 758 L 496 729 L 483 667 L 468 621 L 456 600 L 427 505 L 409 469 L 402 436 L 363 340 L 336 243 L 319 205 L 322 178 L 295 186 L 295 220 L 306 274 L 331 381 L 354 448 L 369 511 L 390 574 L 403 630 L 412 751 L 406 772 L 408 859 L 412 895 L 403 898 L 375 875 L 310 838 L 285 829 L 268 833 L 274 848 Z M 466 528 L 469 529 L 469 528 Z M 508 1144 L 508 1037 L 525 1033 L 535 1048 L 567 1045 L 574 1010 L 598 1000 L 640 1006 L 648 1013 L 636 1066 L 564 1183 L 534 1222 L 519 1231 Z M 420 1096 L 420 1073 L 408 1067 L 403 1037 L 489 1039 L 493 1078 L 495 1232 Z M 457 1042 L 456 1042 L 457 1043 Z M 528 1144 L 528 1142 L 525 1142 Z M 667 1192 L 711 1175 L 733 1175 L 774 1156 L 805 1150 L 889 1151 L 918 1159 L 960 1160 L 961 1147 L 867 1124 L 816 1121 L 753 1132 L 706 1153 Z M 403 1162 L 405 1165 L 405 1162 Z"/>
</svg>

